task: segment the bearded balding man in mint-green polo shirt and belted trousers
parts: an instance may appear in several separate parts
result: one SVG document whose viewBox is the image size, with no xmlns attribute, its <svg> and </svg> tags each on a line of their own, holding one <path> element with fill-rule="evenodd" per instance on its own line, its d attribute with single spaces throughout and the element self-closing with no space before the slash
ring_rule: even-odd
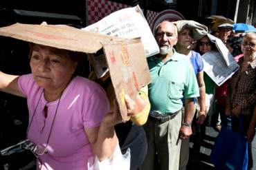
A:
<svg viewBox="0 0 256 170">
<path fill-rule="evenodd" d="M 199 87 L 190 60 L 173 48 L 177 42 L 176 26 L 163 21 L 154 33 L 160 54 L 147 59 L 152 76 L 149 84 L 152 107 L 144 126 L 148 150 L 141 169 L 176 170 L 181 140 L 192 134 L 193 98 L 199 96 Z M 181 98 L 185 98 L 183 120 Z"/>
</svg>

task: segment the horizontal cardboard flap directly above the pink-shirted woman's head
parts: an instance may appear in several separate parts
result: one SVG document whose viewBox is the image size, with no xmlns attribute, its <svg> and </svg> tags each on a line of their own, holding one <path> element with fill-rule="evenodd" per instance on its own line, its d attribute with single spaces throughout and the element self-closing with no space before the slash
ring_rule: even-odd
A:
<svg viewBox="0 0 256 170">
<path fill-rule="evenodd" d="M 23 23 L 15 23 L 14 25 L 0 28 L 0 35 L 40 45 L 86 53 L 95 53 L 100 50 L 102 48 L 101 41 L 124 40 L 64 25 Z"/>
</svg>

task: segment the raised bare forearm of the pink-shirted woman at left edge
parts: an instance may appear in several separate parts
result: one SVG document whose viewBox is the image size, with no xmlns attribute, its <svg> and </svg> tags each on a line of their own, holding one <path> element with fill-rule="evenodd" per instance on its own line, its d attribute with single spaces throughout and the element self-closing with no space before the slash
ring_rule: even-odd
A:
<svg viewBox="0 0 256 170">
<path fill-rule="evenodd" d="M 18 85 L 19 76 L 5 74 L 0 72 L 0 91 L 16 96 L 26 97 L 19 89 Z"/>
</svg>

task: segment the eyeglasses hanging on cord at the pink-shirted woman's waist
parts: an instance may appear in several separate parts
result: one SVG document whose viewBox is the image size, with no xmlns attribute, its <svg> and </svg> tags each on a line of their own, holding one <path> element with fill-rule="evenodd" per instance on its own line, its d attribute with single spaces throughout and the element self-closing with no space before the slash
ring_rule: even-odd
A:
<svg viewBox="0 0 256 170">
<path fill-rule="evenodd" d="M 27 149 L 32 151 L 36 157 L 44 155 L 44 153 L 47 153 L 46 147 L 42 145 L 35 145 L 35 143 L 31 142 L 30 140 L 27 140 L 24 142 L 24 144 L 21 145 L 23 149 Z"/>
</svg>

